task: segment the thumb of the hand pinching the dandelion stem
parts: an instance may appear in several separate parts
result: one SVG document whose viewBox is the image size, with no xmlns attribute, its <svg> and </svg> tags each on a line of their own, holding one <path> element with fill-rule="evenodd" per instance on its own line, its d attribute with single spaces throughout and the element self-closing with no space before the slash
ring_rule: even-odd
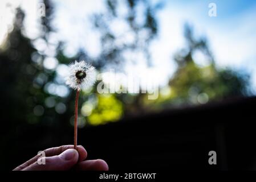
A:
<svg viewBox="0 0 256 182">
<path fill-rule="evenodd" d="M 64 171 L 72 168 L 78 162 L 78 151 L 68 149 L 60 155 L 40 158 L 40 163 L 36 161 L 23 169 L 24 171 Z"/>
</svg>

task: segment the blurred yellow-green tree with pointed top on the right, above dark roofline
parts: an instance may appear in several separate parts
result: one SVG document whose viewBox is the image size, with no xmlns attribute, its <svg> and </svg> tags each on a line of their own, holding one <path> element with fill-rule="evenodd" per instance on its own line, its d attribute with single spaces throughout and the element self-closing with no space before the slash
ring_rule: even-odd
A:
<svg viewBox="0 0 256 182">
<path fill-rule="evenodd" d="M 160 94 L 155 108 L 205 104 L 227 97 L 247 96 L 249 76 L 232 69 L 218 69 L 214 64 L 206 38 L 194 38 L 193 28 L 185 25 L 187 47 L 174 56 L 178 68 L 169 81 L 168 96 Z M 194 55 L 200 52 L 206 65 L 198 65 Z M 164 88 L 166 90 L 166 88 Z M 161 92 L 160 92 L 161 93 Z M 156 102 L 153 102 L 156 104 Z"/>
</svg>

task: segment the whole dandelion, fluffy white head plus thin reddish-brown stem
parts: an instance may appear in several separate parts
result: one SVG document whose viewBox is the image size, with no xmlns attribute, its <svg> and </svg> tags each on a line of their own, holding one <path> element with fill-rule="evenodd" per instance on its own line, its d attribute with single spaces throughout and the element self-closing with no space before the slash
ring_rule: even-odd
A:
<svg viewBox="0 0 256 182">
<path fill-rule="evenodd" d="M 95 68 L 86 61 L 75 61 L 70 64 L 70 71 L 66 84 L 76 90 L 75 98 L 75 119 L 74 119 L 74 148 L 78 143 L 78 98 L 80 90 L 86 90 L 94 85 L 96 81 Z"/>
</svg>

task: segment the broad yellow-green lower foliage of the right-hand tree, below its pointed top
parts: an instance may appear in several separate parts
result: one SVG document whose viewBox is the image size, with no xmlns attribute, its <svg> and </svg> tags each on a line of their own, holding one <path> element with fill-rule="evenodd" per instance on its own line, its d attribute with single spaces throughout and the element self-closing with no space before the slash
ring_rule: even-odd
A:
<svg viewBox="0 0 256 182">
<path fill-rule="evenodd" d="M 209 100 L 242 96 L 246 80 L 228 69 L 218 71 L 214 64 L 200 68 L 190 61 L 178 69 L 169 84 L 176 96 L 172 100 L 183 104 L 205 104 Z"/>
</svg>

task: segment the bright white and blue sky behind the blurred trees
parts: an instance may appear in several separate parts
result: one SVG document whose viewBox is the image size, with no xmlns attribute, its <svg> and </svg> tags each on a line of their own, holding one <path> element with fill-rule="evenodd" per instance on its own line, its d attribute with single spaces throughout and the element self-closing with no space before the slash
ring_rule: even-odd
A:
<svg viewBox="0 0 256 182">
<path fill-rule="evenodd" d="M 2 6 L 8 1 L 0 2 L 0 16 Z M 36 1 L 10 1 L 13 6 L 21 5 L 27 14 L 25 19 L 25 30 L 27 36 L 35 38 L 39 34 L 38 18 L 36 18 Z M 122 2 L 122 1 L 121 1 Z M 157 2 L 157 0 L 152 0 Z M 149 47 L 153 56 L 153 68 L 147 68 L 143 57 L 141 64 L 126 65 L 126 71 L 154 71 L 159 73 L 159 80 L 164 85 L 169 76 L 176 69 L 173 55 L 185 46 L 183 27 L 188 22 L 193 25 L 197 36 L 206 36 L 209 40 L 210 49 L 218 67 L 231 67 L 239 71 L 247 71 L 251 75 L 252 88 L 256 93 L 256 1 L 164 1 L 165 6 L 157 14 L 159 22 L 159 35 Z M 92 13 L 104 11 L 104 1 L 68 1 L 54 0 L 56 5 L 54 26 L 58 30 L 52 35 L 52 41 L 64 40 L 67 43 L 65 52 L 74 55 L 79 47 L 87 50 L 91 56 L 97 56 L 99 49 L 99 34 L 92 28 L 90 18 Z M 208 16 L 209 3 L 216 3 L 217 16 Z M 83 10 L 80 10 L 81 7 Z M 120 10 L 122 11 L 122 10 Z M 3 12 L 3 11 L 2 11 Z M 6 19 L 13 17 L 11 13 L 2 14 Z M 7 17 L 6 17 L 7 16 Z M 125 29 L 123 22 L 113 24 L 113 30 L 122 32 Z M 1 24 L 0 41 L 5 37 L 8 28 Z M 129 38 L 129 36 L 128 36 Z M 127 39 L 128 39 L 127 38 Z M 35 43 L 43 48 L 42 42 Z M 51 52 L 51 51 L 49 51 Z M 134 57 L 137 55 L 127 55 Z M 195 54 L 194 58 L 199 65 L 205 65 L 204 56 Z"/>
</svg>

